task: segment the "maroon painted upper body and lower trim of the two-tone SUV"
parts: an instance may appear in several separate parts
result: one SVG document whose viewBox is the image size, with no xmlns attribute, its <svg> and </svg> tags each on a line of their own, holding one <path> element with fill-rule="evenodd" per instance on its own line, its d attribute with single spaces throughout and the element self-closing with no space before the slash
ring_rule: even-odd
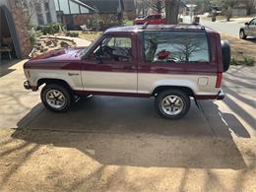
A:
<svg viewBox="0 0 256 192">
<path fill-rule="evenodd" d="M 198 32 L 201 26 L 163 26 L 164 30 L 181 31 L 186 29 L 190 32 Z M 147 30 L 159 30 L 159 26 L 149 26 Z M 104 35 L 127 36 L 130 35 L 133 43 L 133 58 L 131 63 L 104 63 L 96 64 L 87 60 L 81 60 L 77 53 L 80 49 L 68 48 L 50 51 L 41 56 L 28 61 L 25 69 L 45 69 L 45 70 L 85 70 L 85 71 L 102 71 L 102 72 L 125 72 L 125 73 L 154 73 L 154 74 L 193 74 L 193 75 L 213 75 L 217 76 L 219 71 L 222 72 L 222 50 L 218 43 L 220 34 L 206 29 L 211 44 L 211 63 L 179 63 L 179 64 L 158 64 L 144 63 L 142 57 L 141 30 L 138 27 L 115 28 L 104 32 Z M 218 44 L 218 46 L 217 46 Z M 96 44 L 97 46 L 97 44 Z M 96 47 L 95 46 L 95 47 Z M 94 47 L 94 48 L 95 48 Z M 93 50 L 93 49 L 92 49 Z M 216 55 L 220 55 L 218 58 Z M 219 64 L 219 67 L 216 65 Z M 37 88 L 36 88 L 37 89 Z M 34 88 L 35 90 L 35 88 Z M 93 94 L 107 96 L 149 96 L 130 93 L 104 93 L 104 92 L 81 92 L 78 94 Z M 215 99 L 217 96 L 196 96 L 198 99 Z"/>
</svg>

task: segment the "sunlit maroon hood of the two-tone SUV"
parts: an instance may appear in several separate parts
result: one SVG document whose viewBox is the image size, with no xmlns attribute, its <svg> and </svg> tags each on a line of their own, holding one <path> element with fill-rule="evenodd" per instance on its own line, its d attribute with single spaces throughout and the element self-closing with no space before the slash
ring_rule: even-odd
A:
<svg viewBox="0 0 256 192">
<path fill-rule="evenodd" d="M 83 48 L 63 48 L 52 50 L 47 53 L 41 54 L 32 58 L 30 61 L 36 62 L 51 62 L 51 61 L 68 61 L 68 60 L 79 60 L 79 51 Z"/>
</svg>

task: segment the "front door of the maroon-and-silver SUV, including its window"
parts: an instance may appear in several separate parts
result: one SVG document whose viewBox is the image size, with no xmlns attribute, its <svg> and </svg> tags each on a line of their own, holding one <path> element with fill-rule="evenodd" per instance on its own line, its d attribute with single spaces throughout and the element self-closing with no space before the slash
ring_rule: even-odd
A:
<svg viewBox="0 0 256 192">
<path fill-rule="evenodd" d="M 84 90 L 102 94 L 137 94 L 134 36 L 105 35 L 85 59 Z"/>
</svg>

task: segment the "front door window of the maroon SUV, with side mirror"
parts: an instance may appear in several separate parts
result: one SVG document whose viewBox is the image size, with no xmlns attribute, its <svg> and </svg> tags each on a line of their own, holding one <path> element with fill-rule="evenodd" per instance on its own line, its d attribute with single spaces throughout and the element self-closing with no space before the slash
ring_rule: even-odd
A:
<svg viewBox="0 0 256 192">
<path fill-rule="evenodd" d="M 132 40 L 130 37 L 105 37 L 89 59 L 98 63 L 131 62 Z"/>
</svg>

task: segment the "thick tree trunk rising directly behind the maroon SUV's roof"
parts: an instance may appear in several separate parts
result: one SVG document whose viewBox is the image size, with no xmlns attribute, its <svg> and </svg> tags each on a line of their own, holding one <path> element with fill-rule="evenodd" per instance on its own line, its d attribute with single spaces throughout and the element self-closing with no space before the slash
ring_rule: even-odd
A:
<svg viewBox="0 0 256 192">
<path fill-rule="evenodd" d="M 180 0 L 165 0 L 166 24 L 178 24 Z"/>
</svg>

